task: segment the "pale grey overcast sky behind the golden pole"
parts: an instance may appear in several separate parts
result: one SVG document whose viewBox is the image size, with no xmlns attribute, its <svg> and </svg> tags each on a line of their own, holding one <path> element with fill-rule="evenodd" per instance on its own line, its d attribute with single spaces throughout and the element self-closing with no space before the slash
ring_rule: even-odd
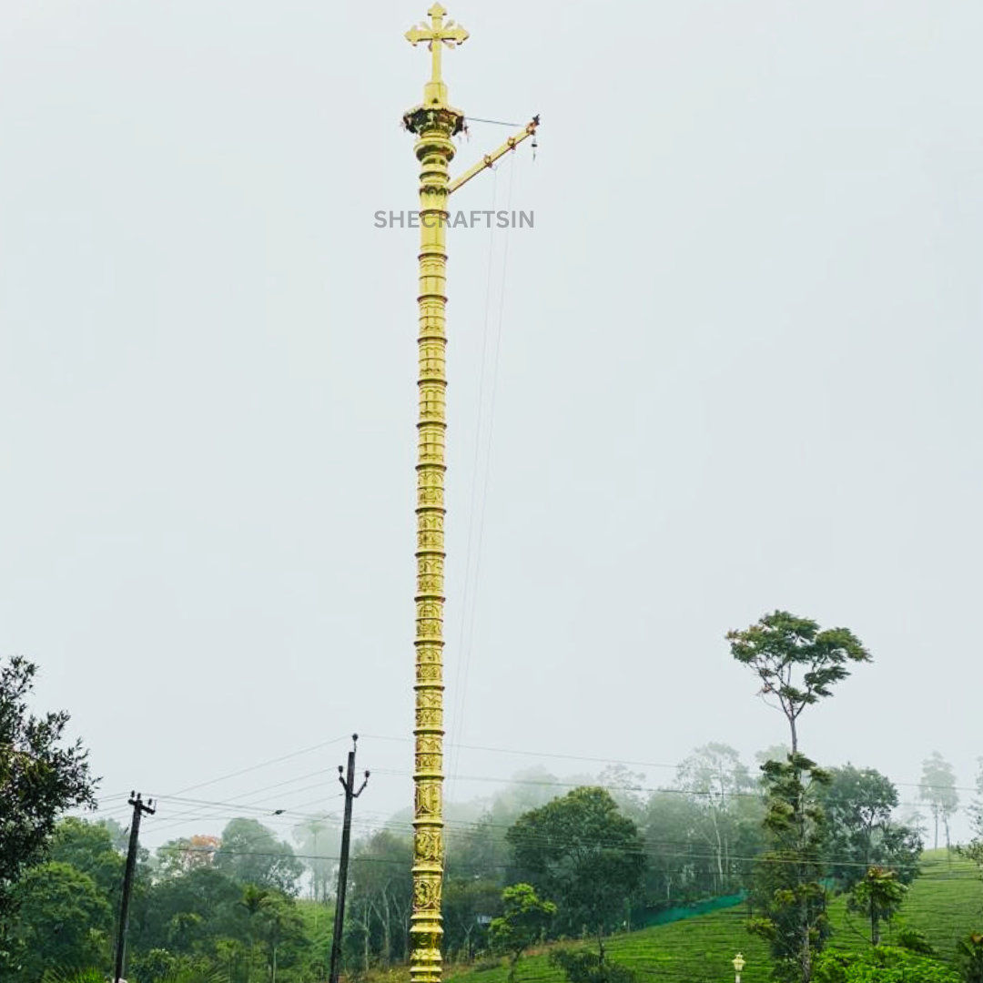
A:
<svg viewBox="0 0 983 983">
<path fill-rule="evenodd" d="M 336 808 L 346 741 L 254 766 L 355 730 L 362 814 L 411 801 L 418 232 L 374 212 L 426 6 L 0 5 L 0 652 L 110 815 Z M 983 6 L 450 15 L 451 101 L 543 119 L 453 202 L 535 227 L 448 236 L 448 741 L 498 749 L 451 797 L 781 741 L 723 640 L 775 608 L 875 658 L 804 750 L 971 785 Z"/>
</svg>

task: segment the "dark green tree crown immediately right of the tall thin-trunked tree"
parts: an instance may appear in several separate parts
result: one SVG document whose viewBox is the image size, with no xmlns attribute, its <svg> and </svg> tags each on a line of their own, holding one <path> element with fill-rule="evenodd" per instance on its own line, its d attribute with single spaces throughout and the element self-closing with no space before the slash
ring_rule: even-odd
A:
<svg viewBox="0 0 983 983">
<path fill-rule="evenodd" d="M 922 841 L 917 830 L 892 819 L 894 783 L 872 768 L 849 764 L 833 769 L 830 777 L 820 802 L 829 831 L 829 872 L 838 887 L 852 890 L 873 866 L 894 870 L 901 884 L 910 884 L 918 873 Z"/>
</svg>

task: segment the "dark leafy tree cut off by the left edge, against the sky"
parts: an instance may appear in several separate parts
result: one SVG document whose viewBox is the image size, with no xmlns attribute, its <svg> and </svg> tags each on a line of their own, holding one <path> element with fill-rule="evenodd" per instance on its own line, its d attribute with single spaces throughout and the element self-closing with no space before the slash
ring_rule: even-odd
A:
<svg viewBox="0 0 983 983">
<path fill-rule="evenodd" d="M 36 672 L 19 656 L 0 661 L 0 922 L 13 908 L 13 886 L 43 855 L 59 816 L 95 805 L 87 750 L 81 741 L 63 743 L 68 714 L 29 714 Z"/>
</svg>

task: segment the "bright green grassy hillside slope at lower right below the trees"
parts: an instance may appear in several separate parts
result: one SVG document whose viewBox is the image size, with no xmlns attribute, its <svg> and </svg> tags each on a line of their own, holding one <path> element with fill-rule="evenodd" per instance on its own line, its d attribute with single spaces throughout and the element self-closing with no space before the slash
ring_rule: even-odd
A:
<svg viewBox="0 0 983 983">
<path fill-rule="evenodd" d="M 868 945 L 866 924 L 846 913 L 843 899 L 834 902 L 830 915 L 836 948 Z M 615 936 L 608 949 L 613 958 L 637 970 L 643 983 L 729 983 L 733 979 L 730 960 L 738 952 L 746 959 L 742 983 L 765 983 L 770 971 L 768 950 L 747 934 L 746 917 L 743 905 L 727 908 Z M 950 864 L 945 850 L 927 852 L 922 875 L 905 900 L 903 920 L 923 931 L 940 955 L 951 957 L 956 939 L 983 928 L 983 884 L 975 868 L 956 859 Z M 450 969 L 446 975 L 450 983 L 505 983 L 507 971 L 504 965 L 495 965 L 462 973 Z M 560 981 L 547 952 L 530 954 L 519 965 L 518 983 Z"/>
</svg>

